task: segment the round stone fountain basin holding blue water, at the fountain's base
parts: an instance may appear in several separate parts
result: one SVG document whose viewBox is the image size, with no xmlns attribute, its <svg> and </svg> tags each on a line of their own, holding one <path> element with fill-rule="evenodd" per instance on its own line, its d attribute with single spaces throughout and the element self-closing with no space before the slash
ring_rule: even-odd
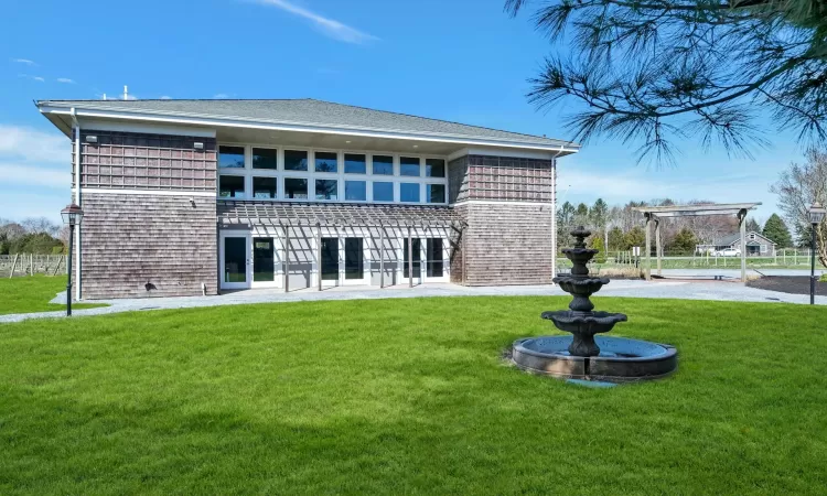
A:
<svg viewBox="0 0 827 496">
<path fill-rule="evenodd" d="M 598 356 L 569 354 L 571 336 L 524 337 L 514 342 L 512 360 L 534 374 L 560 379 L 630 382 L 658 379 L 678 367 L 675 347 L 625 337 L 595 336 Z"/>
</svg>

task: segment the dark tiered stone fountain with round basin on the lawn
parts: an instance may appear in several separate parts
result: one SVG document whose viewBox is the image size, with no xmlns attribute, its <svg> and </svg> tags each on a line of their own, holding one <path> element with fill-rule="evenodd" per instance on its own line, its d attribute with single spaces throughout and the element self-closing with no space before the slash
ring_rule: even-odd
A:
<svg viewBox="0 0 827 496">
<path fill-rule="evenodd" d="M 573 296 L 569 310 L 544 312 L 541 317 L 554 322 L 560 331 L 571 336 L 526 337 L 514 342 L 512 359 L 522 369 L 576 379 L 614 384 L 667 376 L 677 368 L 677 351 L 669 345 L 627 339 L 624 337 L 595 337 L 608 333 L 619 322 L 622 313 L 594 312 L 589 298 L 609 283 L 606 278 L 589 276 L 587 263 L 598 250 L 586 247 L 591 235 L 582 226 L 571 231 L 577 242 L 562 250 L 571 260 L 571 274 L 555 278 L 563 291 Z"/>
</svg>

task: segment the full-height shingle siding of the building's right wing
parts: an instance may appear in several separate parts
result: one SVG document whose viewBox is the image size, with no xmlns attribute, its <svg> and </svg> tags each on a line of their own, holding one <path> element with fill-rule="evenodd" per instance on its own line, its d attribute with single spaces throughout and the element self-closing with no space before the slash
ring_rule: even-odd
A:
<svg viewBox="0 0 827 496">
<path fill-rule="evenodd" d="M 551 283 L 554 161 L 468 155 L 451 161 L 449 174 L 449 202 L 466 224 L 451 281 Z"/>
</svg>

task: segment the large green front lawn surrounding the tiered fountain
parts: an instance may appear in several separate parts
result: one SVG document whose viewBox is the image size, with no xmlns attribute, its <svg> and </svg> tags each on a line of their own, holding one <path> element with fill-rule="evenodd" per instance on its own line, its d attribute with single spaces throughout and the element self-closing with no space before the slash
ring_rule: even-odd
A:
<svg viewBox="0 0 827 496">
<path fill-rule="evenodd" d="M 299 302 L 0 325 L 0 494 L 824 494 L 827 309 L 594 299 L 674 377 L 500 358 L 565 298 Z"/>
</svg>

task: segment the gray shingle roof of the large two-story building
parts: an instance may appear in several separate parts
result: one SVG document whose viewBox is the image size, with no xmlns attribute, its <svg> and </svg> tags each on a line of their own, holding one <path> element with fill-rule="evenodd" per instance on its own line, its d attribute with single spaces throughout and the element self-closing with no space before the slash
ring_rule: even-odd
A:
<svg viewBox="0 0 827 496">
<path fill-rule="evenodd" d="M 77 109 L 212 117 L 250 122 L 323 126 L 351 130 L 397 131 L 421 136 L 470 138 L 525 144 L 579 147 L 570 141 L 310 98 L 283 100 L 41 100 L 37 101 L 37 106 L 71 106 Z"/>
</svg>

